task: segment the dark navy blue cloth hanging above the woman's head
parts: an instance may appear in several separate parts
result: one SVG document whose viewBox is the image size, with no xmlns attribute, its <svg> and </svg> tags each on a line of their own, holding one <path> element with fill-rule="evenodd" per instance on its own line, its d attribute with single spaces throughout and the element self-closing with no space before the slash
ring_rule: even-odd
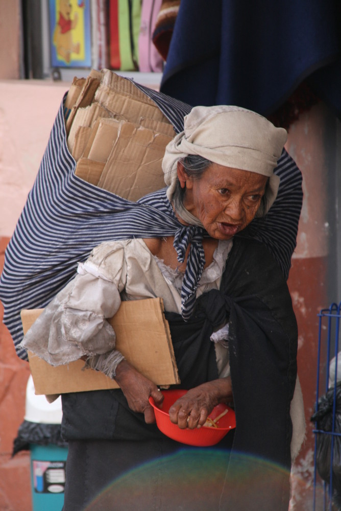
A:
<svg viewBox="0 0 341 511">
<path fill-rule="evenodd" d="M 317 95 L 341 118 L 340 11 L 336 0 L 181 0 L 161 91 L 267 116 L 305 81 L 300 101 Z"/>
</svg>

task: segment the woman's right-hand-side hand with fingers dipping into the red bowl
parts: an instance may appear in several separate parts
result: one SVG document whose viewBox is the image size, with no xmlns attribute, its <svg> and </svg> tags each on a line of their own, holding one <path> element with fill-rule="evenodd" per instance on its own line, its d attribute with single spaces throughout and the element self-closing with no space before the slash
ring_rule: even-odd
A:
<svg viewBox="0 0 341 511">
<path fill-rule="evenodd" d="M 169 408 L 169 417 L 179 428 L 203 426 L 219 403 L 232 401 L 231 378 L 220 378 L 194 387 Z"/>
</svg>

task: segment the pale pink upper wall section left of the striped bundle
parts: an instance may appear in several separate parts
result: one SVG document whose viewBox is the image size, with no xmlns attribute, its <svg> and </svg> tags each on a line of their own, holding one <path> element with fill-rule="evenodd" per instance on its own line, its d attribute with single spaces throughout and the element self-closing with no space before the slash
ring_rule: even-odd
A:
<svg viewBox="0 0 341 511">
<path fill-rule="evenodd" d="M 0 81 L 0 237 L 11 236 L 69 84 Z"/>
</svg>

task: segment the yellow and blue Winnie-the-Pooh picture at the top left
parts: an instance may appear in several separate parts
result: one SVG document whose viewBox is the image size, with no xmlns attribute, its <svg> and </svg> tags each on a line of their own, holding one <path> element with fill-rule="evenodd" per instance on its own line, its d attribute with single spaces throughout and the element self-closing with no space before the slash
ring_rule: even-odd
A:
<svg viewBox="0 0 341 511">
<path fill-rule="evenodd" d="M 52 67 L 91 67 L 90 0 L 49 0 Z"/>
</svg>

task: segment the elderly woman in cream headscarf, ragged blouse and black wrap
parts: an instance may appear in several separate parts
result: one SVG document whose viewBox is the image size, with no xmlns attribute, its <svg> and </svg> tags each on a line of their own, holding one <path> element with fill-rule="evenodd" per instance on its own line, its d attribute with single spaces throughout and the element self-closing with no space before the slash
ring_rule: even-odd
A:
<svg viewBox="0 0 341 511">
<path fill-rule="evenodd" d="M 115 350 L 107 322 L 121 299 L 157 296 L 164 301 L 181 386 L 189 389 L 171 408 L 172 422 L 196 428 L 216 404 L 234 402 L 235 434 L 217 446 L 232 447 L 226 483 L 224 470 L 210 508 L 221 500 L 222 509 L 231 503 L 234 509 L 287 509 L 285 471 L 266 477 L 257 492 L 254 465 L 248 467 L 251 499 L 229 488 L 229 474 L 240 469 L 235 452 L 287 470 L 291 463 L 296 321 L 277 262 L 247 234 L 276 197 L 273 170 L 286 136 L 246 109 L 194 107 L 184 131 L 166 148 L 168 188 L 131 211 L 131 223 L 142 220 L 153 234 L 123 235 L 96 247 L 23 339 L 22 347 L 53 365 L 85 356 L 88 366 L 120 386 L 63 396 L 63 434 L 69 440 L 65 511 L 84 509 L 137 464 L 157 459 L 157 472 L 166 470 L 163 456 L 183 448 L 153 424 L 149 398 L 161 406 L 162 392 Z M 156 480 L 145 493 L 148 504 L 138 508 L 192 508 L 163 500 Z M 207 509 L 207 503 L 194 507 Z"/>
</svg>

